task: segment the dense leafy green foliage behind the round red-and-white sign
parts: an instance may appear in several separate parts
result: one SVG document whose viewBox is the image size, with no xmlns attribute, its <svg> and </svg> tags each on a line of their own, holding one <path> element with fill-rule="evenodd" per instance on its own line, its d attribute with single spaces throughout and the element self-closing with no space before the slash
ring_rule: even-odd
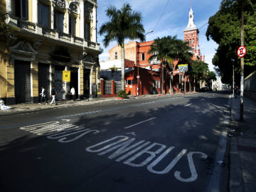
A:
<svg viewBox="0 0 256 192">
<path fill-rule="evenodd" d="M 223 0 L 220 10 L 209 18 L 206 37 L 218 43 L 213 65 L 225 83 L 232 81 L 233 64 L 235 81 L 240 80 L 240 58 L 236 54 L 241 38 L 241 7 L 244 9 L 245 76 L 256 70 L 256 1 Z"/>
</svg>

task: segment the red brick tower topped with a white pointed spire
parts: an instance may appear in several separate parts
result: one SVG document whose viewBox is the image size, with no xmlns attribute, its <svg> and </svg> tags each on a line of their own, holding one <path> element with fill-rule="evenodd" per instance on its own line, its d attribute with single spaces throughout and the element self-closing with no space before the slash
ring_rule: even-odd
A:
<svg viewBox="0 0 256 192">
<path fill-rule="evenodd" d="M 193 10 L 191 10 L 188 14 L 188 26 L 186 26 L 184 30 L 184 41 L 189 43 L 189 46 L 193 49 L 193 60 L 201 60 L 202 57 L 201 51 L 199 48 L 199 38 L 198 38 L 198 28 L 196 27 L 193 19 Z"/>
</svg>

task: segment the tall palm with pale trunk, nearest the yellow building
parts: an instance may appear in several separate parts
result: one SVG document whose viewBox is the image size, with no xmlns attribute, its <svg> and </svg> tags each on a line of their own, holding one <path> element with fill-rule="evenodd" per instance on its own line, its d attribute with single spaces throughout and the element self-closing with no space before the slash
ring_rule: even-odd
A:
<svg viewBox="0 0 256 192">
<path fill-rule="evenodd" d="M 99 33 L 105 34 L 103 40 L 105 47 L 109 46 L 111 41 L 117 41 L 121 46 L 122 90 L 124 90 L 124 40 L 138 38 L 139 41 L 145 41 L 142 14 L 132 11 L 129 4 L 124 4 L 122 9 L 109 6 L 105 12 L 110 21 L 102 24 Z"/>
</svg>

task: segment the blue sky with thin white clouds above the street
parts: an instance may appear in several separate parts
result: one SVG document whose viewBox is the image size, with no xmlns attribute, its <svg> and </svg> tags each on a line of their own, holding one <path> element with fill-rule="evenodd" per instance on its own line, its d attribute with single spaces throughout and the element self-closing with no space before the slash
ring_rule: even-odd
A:
<svg viewBox="0 0 256 192">
<path fill-rule="evenodd" d="M 199 29 L 199 45 L 201 50 L 203 48 L 205 62 L 209 64 L 210 70 L 214 70 L 212 59 L 218 45 L 213 40 L 207 41 L 206 30 L 208 19 L 218 11 L 220 2 L 221 0 L 192 0 L 194 23 Z M 132 10 L 141 12 L 145 33 L 154 29 L 154 32 L 146 35 L 146 41 L 153 41 L 154 38 L 164 36 L 177 36 L 178 39 L 184 39 L 183 31 L 188 25 L 191 0 L 97 0 L 98 31 L 103 23 L 109 21 L 105 13 L 107 7 L 115 6 L 120 9 L 124 3 L 129 3 L 132 6 Z M 160 21 L 159 18 L 161 18 Z M 108 60 L 108 50 L 116 46 L 117 42 L 112 41 L 110 46 L 105 48 L 102 43 L 103 38 L 104 36 L 97 34 L 97 42 L 100 43 L 100 48 L 103 49 L 102 54 L 100 54 L 100 60 Z M 128 42 L 129 40 L 126 40 L 124 43 Z"/>
</svg>

